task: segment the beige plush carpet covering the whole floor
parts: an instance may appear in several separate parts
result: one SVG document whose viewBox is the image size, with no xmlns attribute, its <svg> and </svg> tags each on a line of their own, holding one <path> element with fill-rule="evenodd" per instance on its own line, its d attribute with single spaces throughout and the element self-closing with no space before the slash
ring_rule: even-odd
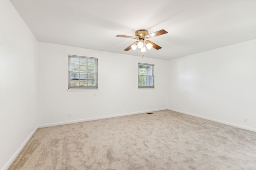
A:
<svg viewBox="0 0 256 170">
<path fill-rule="evenodd" d="M 9 170 L 256 170 L 256 133 L 174 111 L 36 131 Z"/>
</svg>

